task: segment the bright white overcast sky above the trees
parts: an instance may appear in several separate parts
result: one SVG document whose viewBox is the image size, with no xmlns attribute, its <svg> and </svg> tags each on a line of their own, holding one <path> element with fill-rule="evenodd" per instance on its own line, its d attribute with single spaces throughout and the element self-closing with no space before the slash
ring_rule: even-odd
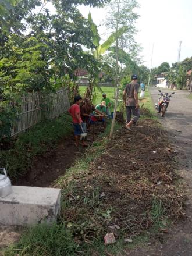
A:
<svg viewBox="0 0 192 256">
<path fill-rule="evenodd" d="M 179 41 L 182 41 L 180 61 L 192 56 L 192 0 L 137 0 L 140 15 L 137 21 L 136 40 L 143 47 L 144 65 L 151 66 L 152 44 L 154 54 L 152 67 L 162 62 L 176 62 Z M 105 19 L 106 10 L 81 6 L 81 13 L 87 17 L 91 12 L 99 25 Z M 102 29 L 100 33 L 105 33 Z"/>
</svg>

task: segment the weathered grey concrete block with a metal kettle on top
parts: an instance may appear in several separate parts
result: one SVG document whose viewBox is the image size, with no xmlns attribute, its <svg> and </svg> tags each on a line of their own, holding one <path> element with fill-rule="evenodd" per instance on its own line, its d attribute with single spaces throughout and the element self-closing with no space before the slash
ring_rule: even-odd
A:
<svg viewBox="0 0 192 256">
<path fill-rule="evenodd" d="M 58 217 L 60 189 L 12 186 L 12 190 L 12 194 L 0 198 L 0 224 L 33 225 Z"/>
</svg>

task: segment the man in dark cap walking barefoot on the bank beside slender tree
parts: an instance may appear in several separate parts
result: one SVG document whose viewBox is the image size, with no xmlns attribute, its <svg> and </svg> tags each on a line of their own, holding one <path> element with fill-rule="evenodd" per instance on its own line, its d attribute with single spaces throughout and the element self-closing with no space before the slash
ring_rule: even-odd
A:
<svg viewBox="0 0 192 256">
<path fill-rule="evenodd" d="M 131 76 L 131 83 L 126 84 L 125 90 L 123 92 L 123 101 L 126 105 L 127 120 L 125 128 L 129 131 L 131 130 L 131 125 L 137 122 L 140 118 L 140 108 L 138 104 L 138 90 L 139 84 L 137 83 L 137 74 Z M 131 119 L 131 115 L 134 117 Z"/>
</svg>

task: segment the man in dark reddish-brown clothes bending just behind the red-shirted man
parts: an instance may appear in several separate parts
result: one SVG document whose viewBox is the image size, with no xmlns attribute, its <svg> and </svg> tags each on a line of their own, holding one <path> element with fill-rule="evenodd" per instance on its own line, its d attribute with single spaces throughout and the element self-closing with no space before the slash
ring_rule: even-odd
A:
<svg viewBox="0 0 192 256">
<path fill-rule="evenodd" d="M 90 98 L 84 98 L 84 105 L 80 107 L 80 115 L 81 119 L 83 120 L 83 129 L 84 132 L 86 132 L 86 127 L 90 126 L 90 118 L 91 118 L 91 113 L 95 111 L 99 115 L 103 116 L 104 114 L 97 110 L 93 104 L 91 104 L 91 99 Z"/>
</svg>

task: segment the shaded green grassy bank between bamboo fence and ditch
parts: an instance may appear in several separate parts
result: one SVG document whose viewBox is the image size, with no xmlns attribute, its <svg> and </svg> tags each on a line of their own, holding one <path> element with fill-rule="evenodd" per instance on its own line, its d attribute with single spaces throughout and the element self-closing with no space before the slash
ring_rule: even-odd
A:
<svg viewBox="0 0 192 256">
<path fill-rule="evenodd" d="M 35 157 L 55 148 L 57 141 L 72 131 L 70 123 L 70 116 L 64 114 L 38 123 L 26 133 L 20 134 L 9 150 L 0 152 L 0 166 L 8 170 L 10 178 L 24 175 Z"/>
</svg>

